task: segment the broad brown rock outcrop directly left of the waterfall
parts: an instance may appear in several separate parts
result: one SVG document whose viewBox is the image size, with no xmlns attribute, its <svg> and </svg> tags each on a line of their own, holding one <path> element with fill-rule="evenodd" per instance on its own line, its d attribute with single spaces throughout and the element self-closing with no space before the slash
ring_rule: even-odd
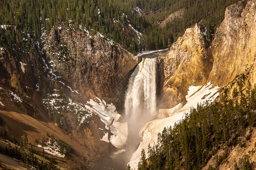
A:
<svg viewBox="0 0 256 170">
<path fill-rule="evenodd" d="M 83 31 L 51 29 L 46 41 L 47 58 L 53 71 L 84 101 L 95 96 L 122 105 L 127 80 L 138 59 L 102 36 Z"/>
</svg>

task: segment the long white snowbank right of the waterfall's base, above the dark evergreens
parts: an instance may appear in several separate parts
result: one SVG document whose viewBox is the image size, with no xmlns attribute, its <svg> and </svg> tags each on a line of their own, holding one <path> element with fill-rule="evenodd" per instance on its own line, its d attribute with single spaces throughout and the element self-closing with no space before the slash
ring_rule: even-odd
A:
<svg viewBox="0 0 256 170">
<path fill-rule="evenodd" d="M 171 109 L 160 109 L 159 114 L 147 122 L 141 129 L 140 135 L 142 142 L 139 144 L 137 151 L 131 156 L 129 165 L 133 169 L 137 169 L 138 163 L 141 159 L 141 151 L 145 150 L 147 155 L 148 145 L 155 146 L 158 143 L 158 133 L 162 133 L 165 127 L 174 126 L 175 122 L 181 121 L 185 118 L 185 113 L 189 114 L 191 108 L 196 108 L 197 104 L 212 103 L 219 95 L 218 87 L 212 87 L 210 82 L 205 86 L 191 86 L 188 89 L 188 95 L 186 96 L 187 104 L 176 105 Z"/>
</svg>

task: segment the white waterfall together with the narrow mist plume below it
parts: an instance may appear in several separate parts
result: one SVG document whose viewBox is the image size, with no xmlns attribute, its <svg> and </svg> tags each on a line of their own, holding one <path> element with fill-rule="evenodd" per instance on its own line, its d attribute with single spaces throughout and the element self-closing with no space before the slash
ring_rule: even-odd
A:
<svg viewBox="0 0 256 170">
<path fill-rule="evenodd" d="M 125 115 L 129 129 L 127 146 L 131 154 L 142 139 L 139 137 L 139 130 L 156 114 L 157 62 L 157 58 L 143 58 L 129 79 L 125 96 Z"/>
</svg>

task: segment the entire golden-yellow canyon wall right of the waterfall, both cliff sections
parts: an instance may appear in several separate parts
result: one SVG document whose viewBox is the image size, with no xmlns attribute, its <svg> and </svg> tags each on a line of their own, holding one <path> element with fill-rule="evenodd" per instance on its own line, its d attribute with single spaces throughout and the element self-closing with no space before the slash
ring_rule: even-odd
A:
<svg viewBox="0 0 256 170">
<path fill-rule="evenodd" d="M 253 0 L 229 6 L 212 42 L 205 38 L 207 28 L 196 24 L 159 56 L 164 63 L 162 108 L 185 102 L 189 86 L 210 81 L 224 87 L 249 69 L 250 82 L 255 83 L 255 12 Z"/>
</svg>

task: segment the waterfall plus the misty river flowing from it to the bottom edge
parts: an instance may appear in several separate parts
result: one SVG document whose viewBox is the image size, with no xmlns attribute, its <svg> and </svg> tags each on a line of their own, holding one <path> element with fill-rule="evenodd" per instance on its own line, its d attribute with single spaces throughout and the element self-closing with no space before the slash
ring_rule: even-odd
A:
<svg viewBox="0 0 256 170">
<path fill-rule="evenodd" d="M 127 163 L 137 150 L 142 138 L 139 130 L 156 114 L 156 75 L 158 53 L 148 55 L 151 58 L 142 58 L 129 78 L 125 95 L 125 118 L 128 137 L 125 146 L 101 159 L 106 168 L 127 169 Z"/>
</svg>

